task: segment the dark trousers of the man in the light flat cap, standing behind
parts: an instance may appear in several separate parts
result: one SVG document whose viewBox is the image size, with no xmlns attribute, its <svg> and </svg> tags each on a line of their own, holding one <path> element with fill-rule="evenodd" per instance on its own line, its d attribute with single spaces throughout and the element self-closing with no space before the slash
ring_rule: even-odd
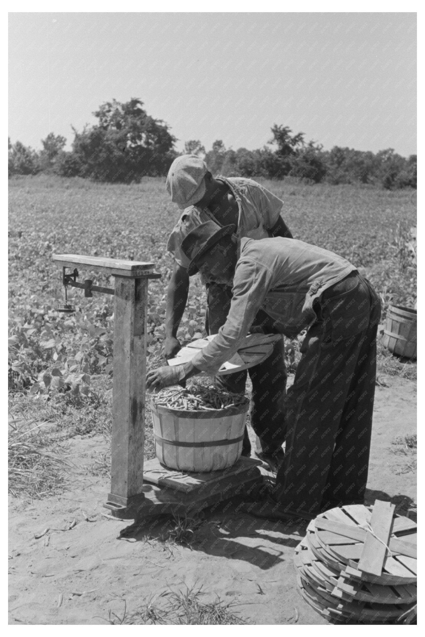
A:
<svg viewBox="0 0 425 637">
<path fill-rule="evenodd" d="M 226 323 L 231 303 L 231 288 L 210 283 L 207 286 L 208 309 L 206 331 L 217 334 Z M 254 321 L 256 331 L 273 333 L 271 318 L 259 311 Z M 257 435 L 257 452 L 273 454 L 285 440 L 285 394 L 287 372 L 285 368 L 284 338 L 273 345 L 273 351 L 259 365 L 248 370 L 252 382 L 250 422 Z M 216 383 L 231 392 L 245 393 L 247 370 L 217 376 Z M 251 449 L 247 428 L 243 440 L 243 454 Z"/>
</svg>

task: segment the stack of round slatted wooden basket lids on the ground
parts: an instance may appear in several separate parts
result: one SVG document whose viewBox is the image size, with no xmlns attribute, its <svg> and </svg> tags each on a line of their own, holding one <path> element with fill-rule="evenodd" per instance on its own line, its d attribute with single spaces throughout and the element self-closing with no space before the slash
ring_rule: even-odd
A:
<svg viewBox="0 0 425 637">
<path fill-rule="evenodd" d="M 417 525 L 395 505 L 343 506 L 322 513 L 295 550 L 298 585 L 323 617 L 343 622 L 416 616 Z"/>
</svg>

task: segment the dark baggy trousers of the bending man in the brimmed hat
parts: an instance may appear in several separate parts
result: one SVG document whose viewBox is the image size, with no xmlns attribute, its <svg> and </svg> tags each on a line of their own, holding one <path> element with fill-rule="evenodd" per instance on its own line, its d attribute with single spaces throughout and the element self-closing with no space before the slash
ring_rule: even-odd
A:
<svg viewBox="0 0 425 637">
<path fill-rule="evenodd" d="M 380 301 L 353 273 L 313 307 L 317 321 L 285 400 L 285 460 L 273 497 L 283 509 L 314 515 L 364 498 Z"/>
</svg>

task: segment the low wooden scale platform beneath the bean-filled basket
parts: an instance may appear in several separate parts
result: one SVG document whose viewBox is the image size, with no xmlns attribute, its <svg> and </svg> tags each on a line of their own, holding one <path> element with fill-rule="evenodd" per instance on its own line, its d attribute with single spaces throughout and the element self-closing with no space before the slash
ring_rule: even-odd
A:
<svg viewBox="0 0 425 637">
<path fill-rule="evenodd" d="M 193 514 L 234 496 L 249 496 L 263 484 L 261 465 L 261 461 L 241 457 L 227 469 L 189 473 L 168 469 L 154 458 L 144 463 L 141 494 L 125 501 L 109 494 L 104 506 L 122 519 Z"/>
</svg>

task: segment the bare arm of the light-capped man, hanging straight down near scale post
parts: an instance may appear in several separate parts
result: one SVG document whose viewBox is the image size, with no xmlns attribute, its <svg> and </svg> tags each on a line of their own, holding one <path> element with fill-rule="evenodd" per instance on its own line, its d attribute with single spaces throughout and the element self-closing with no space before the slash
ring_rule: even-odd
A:
<svg viewBox="0 0 425 637">
<path fill-rule="evenodd" d="M 186 307 L 188 294 L 189 275 L 187 274 L 187 269 L 175 262 L 167 290 L 164 342 L 166 359 L 173 358 L 178 350 L 181 349 L 177 339 L 177 330 Z"/>
</svg>

